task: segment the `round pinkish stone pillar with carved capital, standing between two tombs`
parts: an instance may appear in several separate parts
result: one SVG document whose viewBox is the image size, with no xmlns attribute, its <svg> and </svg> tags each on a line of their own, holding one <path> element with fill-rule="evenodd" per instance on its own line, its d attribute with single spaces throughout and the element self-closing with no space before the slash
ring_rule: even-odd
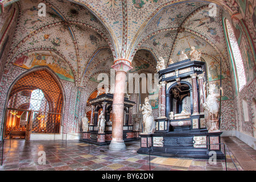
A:
<svg viewBox="0 0 256 182">
<path fill-rule="evenodd" d="M 123 142 L 126 72 L 133 67 L 131 67 L 129 60 L 118 59 L 114 61 L 112 68 L 115 69 L 115 92 L 113 96 L 112 140 L 109 144 L 109 150 L 119 151 L 126 149 L 125 142 Z"/>
</svg>

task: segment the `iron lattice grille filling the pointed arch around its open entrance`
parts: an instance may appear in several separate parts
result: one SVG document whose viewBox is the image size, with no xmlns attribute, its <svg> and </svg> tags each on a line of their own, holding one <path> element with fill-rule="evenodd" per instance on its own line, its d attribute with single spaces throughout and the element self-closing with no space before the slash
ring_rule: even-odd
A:
<svg viewBox="0 0 256 182">
<path fill-rule="evenodd" d="M 60 133 L 63 94 L 47 71 L 20 78 L 11 90 L 8 109 L 31 111 L 31 133 Z M 8 119 L 8 118 L 7 118 Z"/>
</svg>

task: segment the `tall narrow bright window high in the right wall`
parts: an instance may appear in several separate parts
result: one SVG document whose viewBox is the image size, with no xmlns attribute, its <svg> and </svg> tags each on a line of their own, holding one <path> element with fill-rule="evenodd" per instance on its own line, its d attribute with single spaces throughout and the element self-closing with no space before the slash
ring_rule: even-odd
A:
<svg viewBox="0 0 256 182">
<path fill-rule="evenodd" d="M 240 92 L 246 85 L 246 77 L 245 77 L 245 69 L 243 67 L 243 60 L 242 60 L 241 52 L 237 43 L 236 36 L 234 35 L 232 25 L 229 23 L 228 19 L 225 19 L 225 25 L 226 25 L 225 28 L 226 28 L 227 38 L 228 38 L 230 56 L 231 56 L 233 67 L 234 67 L 235 80 L 238 83 L 237 88 L 239 89 L 239 92 Z"/>
</svg>

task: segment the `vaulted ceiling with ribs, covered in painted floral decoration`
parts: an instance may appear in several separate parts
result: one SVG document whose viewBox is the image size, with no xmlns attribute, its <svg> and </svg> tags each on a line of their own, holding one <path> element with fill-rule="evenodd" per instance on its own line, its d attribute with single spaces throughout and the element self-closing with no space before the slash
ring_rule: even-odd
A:
<svg viewBox="0 0 256 182">
<path fill-rule="evenodd" d="M 98 72 L 109 72 L 115 59 L 133 61 L 131 72 L 155 72 L 159 56 L 166 64 L 169 59 L 176 62 L 180 51 L 188 53 L 195 46 L 204 61 L 219 63 L 221 58 L 224 71 L 229 69 L 222 18 L 237 11 L 229 3 L 213 1 L 217 6 L 211 15 L 208 1 L 40 2 L 46 4 L 46 16 L 38 16 L 39 1 L 13 4 L 19 19 L 6 65 L 18 65 L 26 55 L 29 68 L 30 59 L 44 56 L 77 86 L 84 86 Z"/>
</svg>

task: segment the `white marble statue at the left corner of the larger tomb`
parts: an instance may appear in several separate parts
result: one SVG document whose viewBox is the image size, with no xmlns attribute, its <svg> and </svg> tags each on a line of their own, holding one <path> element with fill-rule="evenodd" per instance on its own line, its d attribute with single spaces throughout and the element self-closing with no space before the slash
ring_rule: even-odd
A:
<svg viewBox="0 0 256 182">
<path fill-rule="evenodd" d="M 152 114 L 152 107 L 149 104 L 149 100 L 145 98 L 145 104 L 139 105 L 139 111 L 142 111 L 142 125 L 143 125 L 143 133 L 151 134 L 155 132 L 155 122 Z"/>
</svg>

